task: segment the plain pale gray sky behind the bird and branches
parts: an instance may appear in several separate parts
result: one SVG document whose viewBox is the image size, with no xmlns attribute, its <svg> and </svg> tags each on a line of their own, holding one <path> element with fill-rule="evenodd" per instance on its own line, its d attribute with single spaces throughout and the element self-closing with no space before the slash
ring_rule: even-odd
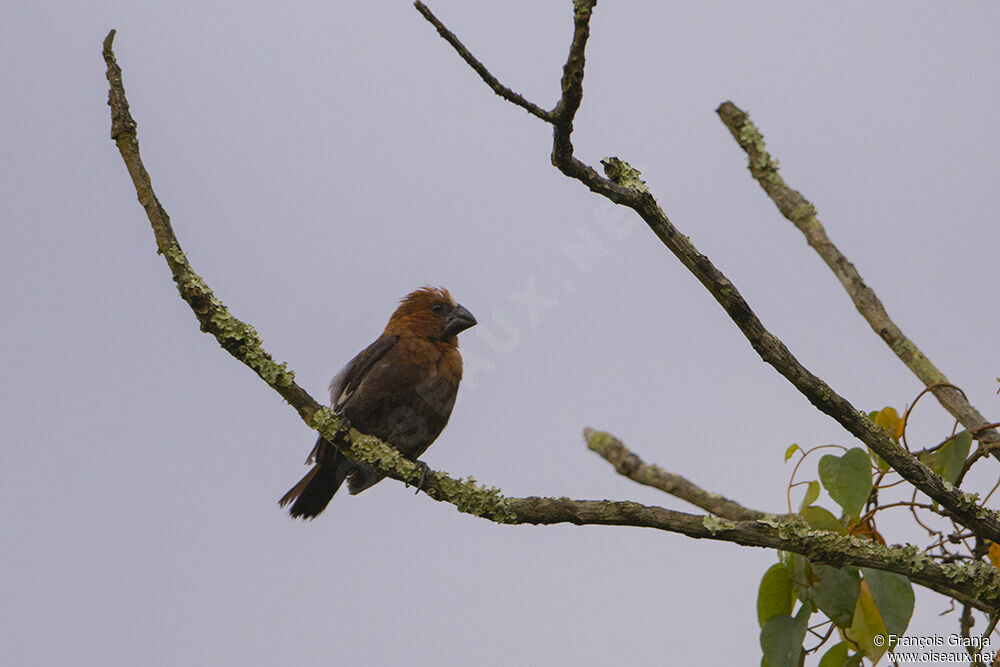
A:
<svg viewBox="0 0 1000 667">
<path fill-rule="evenodd" d="M 554 102 L 568 0 L 430 6 Z M 417 286 L 477 315 L 432 467 L 690 510 L 588 452 L 594 426 L 780 511 L 789 443 L 855 444 L 644 226 L 553 169 L 548 128 L 409 2 L 8 3 L 0 663 L 756 664 L 773 552 L 497 526 L 392 481 L 289 520 L 276 501 L 313 435 L 198 331 L 154 253 L 108 139 L 112 27 L 182 245 L 314 396 Z M 812 371 L 858 407 L 902 407 L 919 382 L 713 112 L 749 110 L 897 323 L 996 417 L 998 34 L 982 1 L 603 2 L 574 140 L 641 169 Z M 574 260 L 581 241 L 600 256 Z M 911 437 L 950 427 L 928 401 Z M 943 598 L 917 604 L 911 632 L 957 628 Z"/>
</svg>

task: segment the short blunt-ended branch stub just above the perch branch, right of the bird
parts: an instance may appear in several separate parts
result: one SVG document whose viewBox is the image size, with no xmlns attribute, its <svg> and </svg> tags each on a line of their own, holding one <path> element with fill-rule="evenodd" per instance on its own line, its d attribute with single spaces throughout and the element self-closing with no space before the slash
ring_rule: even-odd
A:
<svg viewBox="0 0 1000 667">
<path fill-rule="evenodd" d="M 680 475 L 668 472 L 658 465 L 646 464 L 638 455 L 630 452 L 621 440 L 610 433 L 584 429 L 583 437 L 587 447 L 604 458 L 615 467 L 620 475 L 628 477 L 633 482 L 651 486 L 669 493 L 672 496 L 686 500 L 695 507 L 700 507 L 715 516 L 730 521 L 750 521 L 754 519 L 774 518 L 760 510 L 750 509 L 717 493 L 709 493 L 694 482 Z M 787 519 L 786 516 L 779 517 Z"/>
</svg>

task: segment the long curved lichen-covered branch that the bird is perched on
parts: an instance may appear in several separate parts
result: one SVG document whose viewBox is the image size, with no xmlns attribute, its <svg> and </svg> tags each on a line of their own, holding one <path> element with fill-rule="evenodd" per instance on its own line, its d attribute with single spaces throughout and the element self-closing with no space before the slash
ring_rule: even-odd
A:
<svg viewBox="0 0 1000 667">
<path fill-rule="evenodd" d="M 132 176 L 139 202 L 153 228 L 157 249 L 164 256 L 181 297 L 191 306 L 203 331 L 214 336 L 227 352 L 257 373 L 298 411 L 311 428 L 331 441 L 336 440 L 339 422 L 334 412 L 320 406 L 295 384 L 292 372 L 284 364 L 274 362 L 253 328 L 232 315 L 214 296 L 181 250 L 169 217 L 156 198 L 149 174 L 139 156 L 136 123 L 129 113 L 121 69 L 112 51 L 114 35 L 114 30 L 108 34 L 103 51 L 110 84 L 111 137 Z M 885 547 L 856 537 L 813 530 L 800 521 L 788 523 L 765 518 L 733 522 L 632 502 L 507 498 L 496 488 L 479 486 L 472 478 L 457 480 L 442 472 L 425 471 L 386 443 L 356 430 L 351 430 L 348 441 L 344 445 L 344 453 L 352 460 L 364 463 L 387 477 L 411 484 L 416 484 L 423 477 L 421 490 L 429 497 L 496 523 L 656 528 L 694 538 L 791 551 L 818 563 L 852 564 L 898 572 L 920 585 L 977 609 L 993 611 L 1000 608 L 993 593 L 1000 590 L 1000 571 L 981 562 L 941 565 L 915 548 Z"/>
</svg>

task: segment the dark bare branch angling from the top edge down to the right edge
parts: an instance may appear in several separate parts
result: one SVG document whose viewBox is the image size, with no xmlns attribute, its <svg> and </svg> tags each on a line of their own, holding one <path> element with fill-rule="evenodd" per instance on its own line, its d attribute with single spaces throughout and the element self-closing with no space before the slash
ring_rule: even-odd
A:
<svg viewBox="0 0 1000 667">
<path fill-rule="evenodd" d="M 573 41 L 563 68 L 562 98 L 553 110 L 553 118 L 547 119 L 553 125 L 552 163 L 592 192 L 635 211 L 657 238 L 711 293 L 761 359 L 791 382 L 810 403 L 871 447 L 904 479 L 947 509 L 956 521 L 980 537 L 1000 541 L 1000 517 L 979 507 L 975 496 L 964 494 L 948 484 L 900 447 L 865 414 L 858 412 L 847 399 L 813 375 L 778 337 L 764 327 L 736 286 L 708 257 L 698 252 L 687 236 L 674 227 L 649 188 L 639 178 L 640 172 L 637 169 L 618 158 L 606 158 L 602 160 L 604 173 L 607 175 L 604 178 L 591 166 L 576 158 L 570 138 L 573 118 L 583 99 L 584 50 L 590 35 L 590 17 L 596 4 L 596 0 L 573 2 Z"/>
</svg>

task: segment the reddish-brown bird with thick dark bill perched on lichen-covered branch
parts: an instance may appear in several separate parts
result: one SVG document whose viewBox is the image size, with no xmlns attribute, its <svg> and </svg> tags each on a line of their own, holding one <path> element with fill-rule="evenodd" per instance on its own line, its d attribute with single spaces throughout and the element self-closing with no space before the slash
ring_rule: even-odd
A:
<svg viewBox="0 0 1000 667">
<path fill-rule="evenodd" d="M 443 287 L 411 292 L 382 335 L 330 381 L 330 405 L 351 428 L 415 461 L 448 423 L 462 380 L 458 333 L 475 323 Z M 323 436 L 306 464 L 314 464 L 312 470 L 278 501 L 282 507 L 292 503 L 296 518 L 318 516 L 345 479 L 351 495 L 382 480 Z"/>
</svg>

